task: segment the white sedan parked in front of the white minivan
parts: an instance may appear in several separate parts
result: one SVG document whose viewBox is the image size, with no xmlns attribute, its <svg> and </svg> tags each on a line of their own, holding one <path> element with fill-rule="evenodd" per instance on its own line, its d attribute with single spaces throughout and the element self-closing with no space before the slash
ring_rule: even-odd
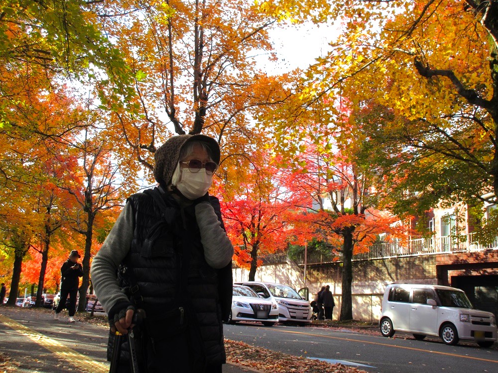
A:
<svg viewBox="0 0 498 373">
<path fill-rule="evenodd" d="M 259 321 L 265 326 L 272 326 L 278 322 L 278 305 L 261 299 L 248 286 L 234 285 L 229 323 L 238 321 Z"/>
</svg>

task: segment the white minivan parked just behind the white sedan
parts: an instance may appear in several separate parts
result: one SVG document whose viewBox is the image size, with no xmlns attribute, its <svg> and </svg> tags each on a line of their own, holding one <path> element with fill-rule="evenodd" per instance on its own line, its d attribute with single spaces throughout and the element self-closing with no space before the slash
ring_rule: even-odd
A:
<svg viewBox="0 0 498 373">
<path fill-rule="evenodd" d="M 249 286 L 261 298 L 275 302 L 278 305 L 279 322 L 292 321 L 297 323 L 311 322 L 311 307 L 306 300 L 308 288 L 304 287 L 299 291 L 292 287 L 272 282 L 235 282 L 239 285 Z"/>
</svg>

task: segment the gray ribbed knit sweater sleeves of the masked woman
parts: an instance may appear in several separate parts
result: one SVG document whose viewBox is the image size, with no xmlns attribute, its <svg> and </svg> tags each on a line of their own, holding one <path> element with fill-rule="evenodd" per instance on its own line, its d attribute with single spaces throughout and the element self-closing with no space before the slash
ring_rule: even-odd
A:
<svg viewBox="0 0 498 373">
<path fill-rule="evenodd" d="M 206 262 L 215 269 L 227 266 L 234 255 L 234 247 L 221 226 L 213 206 L 209 202 L 197 204 L 195 216 L 201 232 Z M 118 284 L 116 270 L 130 250 L 133 230 L 133 211 L 131 205 L 126 203 L 104 244 L 93 259 L 90 271 L 92 283 L 106 311 L 118 302 L 128 301 Z"/>
</svg>

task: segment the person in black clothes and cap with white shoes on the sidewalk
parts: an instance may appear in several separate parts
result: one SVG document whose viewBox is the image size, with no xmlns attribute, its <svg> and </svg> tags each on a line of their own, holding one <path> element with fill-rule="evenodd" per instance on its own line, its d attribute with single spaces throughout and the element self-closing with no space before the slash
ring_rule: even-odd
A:
<svg viewBox="0 0 498 373">
<path fill-rule="evenodd" d="M 61 291 L 57 308 L 55 309 L 55 319 L 59 319 L 59 313 L 66 306 L 67 296 L 69 295 L 69 322 L 75 322 L 74 313 L 76 312 L 76 296 L 80 284 L 80 277 L 83 276 L 83 268 L 78 263 L 80 254 L 77 250 L 72 250 L 69 259 L 61 267 Z"/>
</svg>

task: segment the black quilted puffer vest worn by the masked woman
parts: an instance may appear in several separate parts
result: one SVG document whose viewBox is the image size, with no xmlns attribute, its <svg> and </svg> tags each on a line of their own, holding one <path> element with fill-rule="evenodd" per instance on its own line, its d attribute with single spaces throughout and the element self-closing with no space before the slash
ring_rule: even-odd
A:
<svg viewBox="0 0 498 373">
<path fill-rule="evenodd" d="M 135 230 L 124 265 L 139 289 L 139 299 L 131 300 L 145 310 L 145 334 L 152 342 L 187 333 L 197 339 L 190 345 L 205 364 L 225 363 L 222 319 L 231 302 L 231 268 L 228 275 L 206 263 L 194 205 L 182 208 L 169 193 L 159 197 L 163 208 L 150 192 L 128 198 Z M 221 221 L 218 199 L 210 197 L 210 203 Z"/>
</svg>

